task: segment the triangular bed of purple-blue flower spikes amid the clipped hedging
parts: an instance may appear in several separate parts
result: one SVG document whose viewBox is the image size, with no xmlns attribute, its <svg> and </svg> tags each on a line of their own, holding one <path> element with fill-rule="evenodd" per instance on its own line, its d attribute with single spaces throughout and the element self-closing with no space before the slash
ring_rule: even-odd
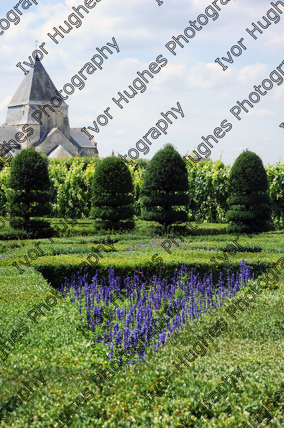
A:
<svg viewBox="0 0 284 428">
<path fill-rule="evenodd" d="M 227 271 L 227 278 L 223 279 L 220 273 L 216 283 L 212 272 L 201 279 L 200 274 L 194 275 L 193 269 L 190 271 L 184 265 L 172 279 L 163 279 L 161 275 L 151 277 L 142 271 L 122 281 L 109 269 L 108 278 L 99 280 L 97 273 L 90 283 L 87 275 L 66 280 L 62 290 L 70 291 L 62 292 L 62 296 L 80 313 L 85 332 L 93 331 L 91 336 L 98 342 L 95 348 L 100 349 L 99 343 L 107 343 L 112 359 L 139 338 L 145 343 L 139 352 L 142 357 L 147 347 L 157 350 L 167 337 L 203 311 L 222 306 L 226 297 L 234 297 L 240 288 L 247 286 L 250 278 L 254 279 L 254 274 L 243 261 L 236 276 Z M 97 318 L 101 318 L 100 323 Z M 136 355 L 132 362 L 138 359 Z"/>
</svg>

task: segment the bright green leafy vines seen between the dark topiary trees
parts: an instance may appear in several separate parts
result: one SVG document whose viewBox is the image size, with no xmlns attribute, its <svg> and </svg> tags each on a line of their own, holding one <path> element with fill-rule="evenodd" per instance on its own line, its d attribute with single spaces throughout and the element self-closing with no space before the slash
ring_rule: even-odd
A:
<svg viewBox="0 0 284 428">
<path fill-rule="evenodd" d="M 102 159 L 98 156 L 48 159 L 48 172 L 52 183 L 51 217 L 64 217 L 68 209 L 71 208 L 76 213 L 77 219 L 88 218 L 91 207 L 91 181 L 94 171 L 101 162 Z M 140 195 L 143 176 L 146 171 L 145 166 L 148 163 L 148 160 L 138 158 L 129 166 L 134 184 L 135 220 L 141 214 Z M 190 189 L 188 192 L 189 202 L 178 209 L 188 211 L 190 219 L 193 219 L 194 215 L 202 210 L 205 213 L 207 222 L 226 222 L 225 216 L 228 205 L 224 189 L 228 189 L 225 186 L 228 184 L 226 178 L 228 180 L 230 166 L 224 166 L 221 161 L 191 162 L 191 165 L 188 163 L 185 164 L 188 188 Z M 10 169 L 11 167 L 8 162 L 0 170 L 0 214 L 2 215 L 5 215 L 7 206 Z M 269 197 L 272 201 L 276 201 L 281 197 L 281 192 L 284 191 L 284 164 L 278 162 L 275 165 L 268 165 L 265 167 L 265 170 L 269 182 Z M 275 206 L 273 210 L 275 214 L 274 224 L 277 228 L 282 228 L 284 225 L 284 205 L 276 202 L 273 205 Z M 77 226 L 74 228 L 69 227 L 65 236 L 68 236 L 68 234 L 72 235 L 77 228 Z M 79 230 L 76 233 L 78 234 Z"/>
</svg>

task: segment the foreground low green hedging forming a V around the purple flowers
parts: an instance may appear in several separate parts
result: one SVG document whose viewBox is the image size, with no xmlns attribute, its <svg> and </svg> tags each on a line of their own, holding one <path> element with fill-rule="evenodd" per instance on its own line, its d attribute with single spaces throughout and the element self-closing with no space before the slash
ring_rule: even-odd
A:
<svg viewBox="0 0 284 428">
<path fill-rule="evenodd" d="M 93 392 L 93 399 L 74 413 L 71 426 L 176 427 L 180 425 L 180 418 L 185 419 L 215 389 L 221 382 L 220 377 L 237 371 L 239 365 L 244 381 L 229 388 L 227 398 L 222 397 L 210 409 L 210 417 L 201 417 L 198 422 L 198 426 L 209 428 L 235 428 L 259 409 L 262 399 L 273 399 L 273 393 L 283 384 L 284 338 L 282 331 L 275 327 L 275 323 L 284 319 L 283 273 L 278 288 L 264 290 L 249 308 L 238 311 L 237 319 L 228 316 L 225 307 L 230 299 L 225 300 L 222 307 L 203 312 L 180 332 L 173 333 L 157 352 L 149 348 L 145 361 L 130 365 L 127 371 L 120 370 L 109 382 L 105 379 L 100 389 L 91 377 L 104 370 L 108 360 L 103 352 L 94 352 L 91 341 L 76 330 L 80 316 L 72 304 L 67 299 L 58 300 L 50 312 L 38 317 L 38 324 L 33 323 L 26 313 L 34 305 L 45 302 L 52 294 L 51 287 L 39 273 L 14 275 L 12 269 L 12 266 L 3 266 L 0 275 L 1 336 L 10 337 L 21 322 L 29 332 L 11 347 L 8 358 L 1 361 L 1 407 L 11 393 L 19 391 L 23 380 L 37 375 L 39 370 L 47 383 L 30 394 L 28 403 L 14 409 L 11 420 L 3 422 L 6 428 L 54 424 L 55 418 L 64 411 L 63 406 L 74 403 L 85 387 Z M 242 295 L 240 290 L 234 299 Z M 176 369 L 172 362 L 179 363 L 178 356 L 186 354 L 197 336 L 208 333 L 220 318 L 228 328 L 210 343 L 206 355 L 184 366 L 183 372 Z M 153 384 L 164 378 L 167 371 L 173 383 L 164 391 L 159 390 L 160 395 L 154 396 L 150 404 L 141 393 L 153 391 Z M 280 428 L 283 423 L 280 404 L 271 412 L 269 426 Z"/>
</svg>

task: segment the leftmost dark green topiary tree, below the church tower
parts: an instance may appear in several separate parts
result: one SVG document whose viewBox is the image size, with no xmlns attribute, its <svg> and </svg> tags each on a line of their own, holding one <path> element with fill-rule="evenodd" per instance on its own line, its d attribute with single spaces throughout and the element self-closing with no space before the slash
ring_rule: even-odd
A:
<svg viewBox="0 0 284 428">
<path fill-rule="evenodd" d="M 47 157 L 34 148 L 22 150 L 12 160 L 8 204 L 15 219 L 10 223 L 14 228 L 28 230 L 34 237 L 39 237 L 49 226 L 48 222 L 37 219 L 51 211 L 47 162 Z"/>
</svg>

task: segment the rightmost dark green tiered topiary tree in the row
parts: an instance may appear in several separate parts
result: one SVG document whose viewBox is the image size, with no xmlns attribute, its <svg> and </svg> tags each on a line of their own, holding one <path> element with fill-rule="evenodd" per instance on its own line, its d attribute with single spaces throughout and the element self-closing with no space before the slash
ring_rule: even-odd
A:
<svg viewBox="0 0 284 428">
<path fill-rule="evenodd" d="M 227 203 L 229 233 L 266 232 L 271 230 L 268 179 L 261 158 L 249 150 L 236 159 L 229 174 L 232 194 Z"/>
</svg>

